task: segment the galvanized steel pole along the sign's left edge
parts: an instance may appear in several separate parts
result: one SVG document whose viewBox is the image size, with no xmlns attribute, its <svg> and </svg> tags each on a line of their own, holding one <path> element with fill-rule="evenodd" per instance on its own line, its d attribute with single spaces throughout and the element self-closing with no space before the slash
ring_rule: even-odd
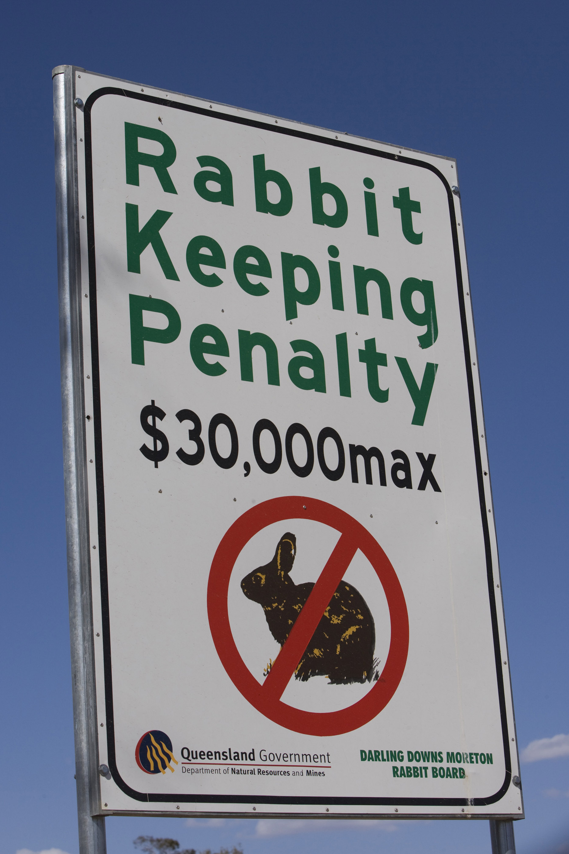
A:
<svg viewBox="0 0 569 854">
<path fill-rule="evenodd" d="M 105 819 L 100 815 L 98 782 L 89 516 L 85 471 L 81 266 L 73 104 L 75 69 L 72 66 L 58 66 L 54 68 L 52 77 L 67 583 L 79 852 L 106 854 Z"/>
</svg>

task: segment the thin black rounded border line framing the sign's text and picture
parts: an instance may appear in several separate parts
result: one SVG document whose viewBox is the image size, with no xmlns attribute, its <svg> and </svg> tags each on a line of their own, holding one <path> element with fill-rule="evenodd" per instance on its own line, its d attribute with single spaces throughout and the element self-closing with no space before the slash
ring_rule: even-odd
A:
<svg viewBox="0 0 569 854">
<path fill-rule="evenodd" d="M 500 717 L 502 721 L 502 740 L 504 748 L 504 763 L 506 767 L 506 775 L 502 783 L 502 787 L 488 798 L 310 798 L 310 797 L 290 797 L 282 798 L 276 796 L 259 795 L 241 796 L 241 795 L 198 795 L 198 794 L 163 794 L 163 793 L 142 793 L 136 792 L 128 786 L 119 774 L 119 769 L 116 763 L 116 753 L 114 748 L 114 713 L 113 713 L 113 676 L 111 664 L 111 636 L 110 636 L 110 617 L 108 605 L 108 576 L 107 576 L 107 535 L 105 529 L 105 488 L 103 478 L 102 464 L 102 423 L 101 423 L 101 389 L 100 389 L 100 372 L 99 372 L 99 339 L 97 327 L 96 313 L 96 257 L 95 257 L 95 221 L 93 210 L 93 160 L 91 148 L 91 108 L 93 104 L 105 95 L 115 95 L 119 97 L 134 98 L 138 101 L 157 104 L 160 107 L 169 107 L 172 109 L 180 109 L 184 112 L 195 113 L 203 116 L 208 116 L 210 119 L 233 122 L 238 125 L 248 127 L 257 127 L 271 133 L 281 133 L 289 137 L 297 137 L 300 139 L 308 139 L 311 142 L 331 145 L 335 148 L 348 149 L 350 151 L 358 151 L 361 154 L 380 157 L 384 160 L 397 161 L 398 163 L 406 163 L 409 166 L 420 167 L 427 169 L 429 172 L 437 175 L 442 181 L 446 190 L 449 213 L 450 227 L 452 231 L 452 243 L 455 254 L 456 268 L 456 285 L 458 290 L 458 302 L 462 326 L 462 342 L 464 345 L 464 358 L 467 370 L 467 387 L 468 401 L 470 404 L 470 415 L 473 429 L 473 448 L 474 458 L 476 460 L 476 472 L 479 486 L 479 502 L 480 516 L 482 520 L 482 529 L 484 534 L 485 555 L 486 555 L 486 574 L 488 579 L 488 591 L 491 610 L 491 625 L 492 636 L 494 640 L 494 654 L 496 659 L 496 681 L 498 687 L 498 699 L 500 705 Z M 500 650 L 500 637 L 498 629 L 498 619 L 496 610 L 496 594 L 494 592 L 494 577 L 492 571 L 492 556 L 491 556 L 491 541 L 490 530 L 488 527 L 488 518 L 486 515 L 485 489 L 482 474 L 482 460 L 480 457 L 479 447 L 479 428 L 478 419 L 476 416 L 476 401 L 474 397 L 474 383 L 472 373 L 472 360 L 470 355 L 470 345 L 468 342 L 467 316 L 464 304 L 463 284 L 462 284 L 462 267 L 460 258 L 460 247 L 458 243 L 458 231 L 456 226 L 455 204 L 450 190 L 450 185 L 444 175 L 438 171 L 431 163 L 421 161 L 416 158 L 407 157 L 404 155 L 394 155 L 391 152 L 372 149 L 365 145 L 347 142 L 344 139 L 330 139 L 328 137 L 318 136 L 315 133 L 300 131 L 296 128 L 287 128 L 279 125 L 270 125 L 266 121 L 258 119 L 247 119 L 245 117 L 232 114 L 220 113 L 217 110 L 196 107 L 193 104 L 184 104 L 177 101 L 171 101 L 167 98 L 154 97 L 152 95 L 144 95 L 139 92 L 128 89 L 119 89 L 115 86 L 104 86 L 92 92 L 84 105 L 84 151 L 85 151 L 85 193 L 87 202 L 87 243 L 88 243 L 88 260 L 89 260 L 89 285 L 90 285 L 90 334 L 91 334 L 91 369 L 92 369 L 92 387 L 93 387 L 93 421 L 95 429 L 95 461 L 96 461 L 96 506 L 97 506 L 97 529 L 99 537 L 99 567 L 101 576 L 101 611 L 102 611 L 102 644 L 103 644 L 103 665 L 104 665 L 104 685 L 105 685 L 105 711 L 107 722 L 107 762 L 113 780 L 117 786 L 128 795 L 137 801 L 147 803 L 193 803 L 193 804 L 331 804 L 334 806 L 486 806 L 495 804 L 508 791 L 511 777 L 512 764 L 509 748 L 508 735 L 508 717 L 506 710 L 506 699 L 504 691 L 504 680 L 502 673 L 502 652 Z M 406 817 L 406 816 L 403 816 Z M 470 816 L 469 816 L 470 817 Z"/>
</svg>

